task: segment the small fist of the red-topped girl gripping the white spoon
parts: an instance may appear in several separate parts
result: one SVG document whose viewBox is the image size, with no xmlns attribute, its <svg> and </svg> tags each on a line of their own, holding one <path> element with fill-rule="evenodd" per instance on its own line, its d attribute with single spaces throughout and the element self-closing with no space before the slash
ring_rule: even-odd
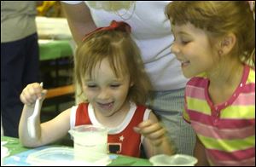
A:
<svg viewBox="0 0 256 167">
<path fill-rule="evenodd" d="M 39 83 L 31 83 L 26 85 L 20 94 L 20 101 L 25 105 L 32 107 L 35 105 L 36 100 L 39 98 L 44 100 L 47 90 L 43 89 Z"/>
</svg>

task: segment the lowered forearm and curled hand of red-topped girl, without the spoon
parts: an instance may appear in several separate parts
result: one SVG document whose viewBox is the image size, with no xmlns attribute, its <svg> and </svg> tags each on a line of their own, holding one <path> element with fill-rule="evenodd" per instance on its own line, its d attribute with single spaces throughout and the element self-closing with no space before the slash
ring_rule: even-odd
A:
<svg viewBox="0 0 256 167">
<path fill-rule="evenodd" d="M 166 130 L 160 125 L 153 112 L 150 112 L 148 120 L 138 124 L 135 130 L 145 137 L 143 147 L 148 158 L 160 153 L 173 154 L 171 143 L 166 136 Z"/>
</svg>

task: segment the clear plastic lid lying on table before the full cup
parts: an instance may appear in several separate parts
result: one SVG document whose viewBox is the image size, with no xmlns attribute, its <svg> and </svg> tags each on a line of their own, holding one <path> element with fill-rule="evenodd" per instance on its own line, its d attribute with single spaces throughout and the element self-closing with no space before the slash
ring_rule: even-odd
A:
<svg viewBox="0 0 256 167">
<path fill-rule="evenodd" d="M 28 155 L 26 162 L 38 166 L 84 166 L 107 165 L 111 159 L 107 156 L 95 163 L 78 161 L 74 159 L 71 147 L 50 147 Z"/>
</svg>

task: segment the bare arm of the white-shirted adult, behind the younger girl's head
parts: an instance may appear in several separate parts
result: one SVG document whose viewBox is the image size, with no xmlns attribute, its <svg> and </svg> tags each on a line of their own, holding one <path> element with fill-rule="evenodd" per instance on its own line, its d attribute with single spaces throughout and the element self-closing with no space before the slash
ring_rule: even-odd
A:
<svg viewBox="0 0 256 167">
<path fill-rule="evenodd" d="M 90 15 L 90 9 L 84 2 L 79 4 L 61 3 L 61 5 L 66 14 L 73 38 L 79 44 L 85 34 L 96 29 L 96 25 Z"/>
</svg>

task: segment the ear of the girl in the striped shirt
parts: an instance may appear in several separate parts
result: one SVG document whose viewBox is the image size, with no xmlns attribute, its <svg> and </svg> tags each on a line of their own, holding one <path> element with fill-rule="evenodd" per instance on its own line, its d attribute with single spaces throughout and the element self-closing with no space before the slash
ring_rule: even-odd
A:
<svg viewBox="0 0 256 167">
<path fill-rule="evenodd" d="M 223 55 L 228 55 L 236 44 L 236 35 L 230 33 L 220 42 L 220 50 Z"/>
</svg>

